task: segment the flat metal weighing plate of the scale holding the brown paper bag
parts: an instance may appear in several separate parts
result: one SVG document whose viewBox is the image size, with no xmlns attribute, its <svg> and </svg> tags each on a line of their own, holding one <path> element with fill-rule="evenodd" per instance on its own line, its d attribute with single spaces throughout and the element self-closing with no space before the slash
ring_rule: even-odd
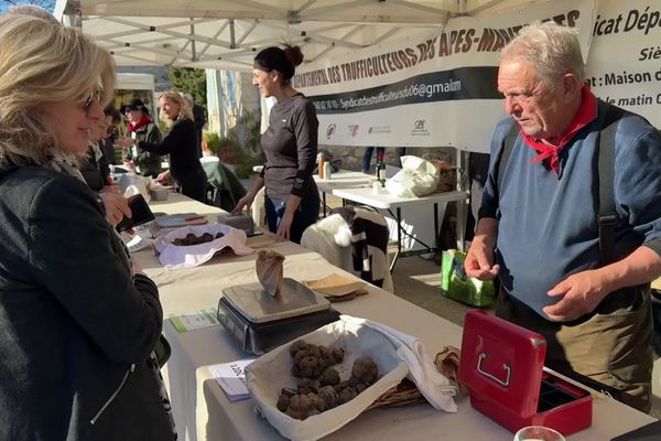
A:
<svg viewBox="0 0 661 441">
<path fill-rule="evenodd" d="M 283 279 L 280 299 L 264 291 L 259 282 L 226 288 L 223 295 L 251 323 L 267 323 L 330 308 L 323 295 L 291 278 Z"/>
</svg>

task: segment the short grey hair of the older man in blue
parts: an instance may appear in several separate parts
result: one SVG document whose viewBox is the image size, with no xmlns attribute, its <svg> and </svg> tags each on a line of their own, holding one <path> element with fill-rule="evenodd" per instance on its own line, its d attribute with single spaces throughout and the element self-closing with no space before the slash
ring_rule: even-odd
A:
<svg viewBox="0 0 661 441">
<path fill-rule="evenodd" d="M 553 21 L 533 22 L 519 31 L 500 53 L 500 62 L 524 60 L 535 68 L 538 79 L 551 84 L 564 74 L 585 79 L 578 31 Z"/>
</svg>

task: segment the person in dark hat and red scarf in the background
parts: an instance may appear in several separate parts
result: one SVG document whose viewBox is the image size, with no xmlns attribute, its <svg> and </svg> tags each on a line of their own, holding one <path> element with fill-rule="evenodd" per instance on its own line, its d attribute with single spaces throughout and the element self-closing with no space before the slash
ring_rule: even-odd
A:
<svg viewBox="0 0 661 441">
<path fill-rule="evenodd" d="M 161 130 L 149 115 L 149 110 L 139 98 L 133 98 L 129 104 L 121 107 L 129 120 L 127 135 L 130 138 L 120 138 L 124 164 L 143 176 L 156 178 L 161 172 L 161 155 L 141 149 L 140 141 L 160 143 Z"/>
</svg>

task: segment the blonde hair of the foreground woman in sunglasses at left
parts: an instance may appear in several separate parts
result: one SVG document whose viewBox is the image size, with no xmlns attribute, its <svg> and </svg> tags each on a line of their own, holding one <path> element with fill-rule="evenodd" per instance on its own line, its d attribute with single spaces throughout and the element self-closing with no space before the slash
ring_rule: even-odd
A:
<svg viewBox="0 0 661 441">
<path fill-rule="evenodd" d="M 0 15 L 0 163 L 47 162 L 59 143 L 40 108 L 115 93 L 110 54 L 73 28 L 25 14 Z"/>
</svg>

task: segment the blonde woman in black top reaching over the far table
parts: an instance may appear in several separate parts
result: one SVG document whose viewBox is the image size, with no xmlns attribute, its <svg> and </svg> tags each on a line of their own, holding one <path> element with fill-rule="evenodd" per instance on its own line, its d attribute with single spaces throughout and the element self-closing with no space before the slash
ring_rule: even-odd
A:
<svg viewBox="0 0 661 441">
<path fill-rule="evenodd" d="M 180 192 L 199 202 L 206 201 L 207 179 L 197 158 L 197 133 L 193 114 L 176 90 L 167 90 L 159 99 L 161 112 L 171 121 L 170 131 L 162 142 L 138 142 L 138 148 L 159 154 L 170 154 L 170 170 L 159 181 L 170 176 Z"/>
</svg>

